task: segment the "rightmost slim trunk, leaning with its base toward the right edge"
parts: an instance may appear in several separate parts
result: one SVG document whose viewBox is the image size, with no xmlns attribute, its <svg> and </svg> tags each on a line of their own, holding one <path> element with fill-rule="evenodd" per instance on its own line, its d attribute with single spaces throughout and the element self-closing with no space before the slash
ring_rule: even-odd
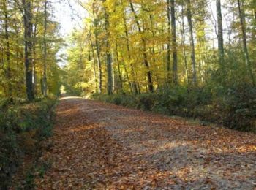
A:
<svg viewBox="0 0 256 190">
<path fill-rule="evenodd" d="M 242 3 L 241 3 L 241 1 L 242 1 Z M 238 2 L 238 11 L 239 11 L 246 67 L 249 72 L 249 76 L 251 77 L 252 84 L 255 86 L 255 78 L 254 78 L 254 75 L 252 72 L 252 64 L 249 59 L 249 53 L 248 53 L 248 48 L 247 48 L 246 24 L 245 24 L 245 18 L 244 18 L 244 4 L 243 4 L 243 0 L 238 0 L 237 2 Z"/>
</svg>

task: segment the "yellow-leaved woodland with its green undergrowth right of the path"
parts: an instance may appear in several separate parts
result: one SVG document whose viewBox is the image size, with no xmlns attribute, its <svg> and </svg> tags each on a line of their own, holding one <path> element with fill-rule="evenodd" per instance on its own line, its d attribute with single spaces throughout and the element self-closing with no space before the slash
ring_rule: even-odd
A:
<svg viewBox="0 0 256 190">
<path fill-rule="evenodd" d="M 69 37 L 62 81 L 69 94 L 255 126 L 256 1 L 80 5 L 89 17 Z"/>
</svg>

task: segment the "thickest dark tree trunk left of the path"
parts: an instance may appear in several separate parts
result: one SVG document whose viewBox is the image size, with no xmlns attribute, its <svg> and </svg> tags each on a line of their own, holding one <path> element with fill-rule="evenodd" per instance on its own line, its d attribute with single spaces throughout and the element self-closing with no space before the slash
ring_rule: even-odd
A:
<svg viewBox="0 0 256 190">
<path fill-rule="evenodd" d="M 32 65 L 32 42 L 31 42 L 31 0 L 23 0 L 23 21 L 25 41 L 25 67 L 26 67 L 26 95 L 29 102 L 34 100 L 33 91 L 33 65 Z"/>
</svg>

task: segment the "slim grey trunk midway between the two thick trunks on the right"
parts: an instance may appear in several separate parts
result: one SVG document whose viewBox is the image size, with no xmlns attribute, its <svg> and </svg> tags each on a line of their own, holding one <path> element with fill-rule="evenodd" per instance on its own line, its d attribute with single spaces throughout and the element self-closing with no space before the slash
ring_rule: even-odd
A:
<svg viewBox="0 0 256 190">
<path fill-rule="evenodd" d="M 192 82 L 194 85 L 197 83 L 197 72 L 195 67 L 195 42 L 193 36 L 193 26 L 192 26 L 192 13 L 191 13 L 191 3 L 187 0 L 187 23 L 189 24 L 189 41 L 191 46 L 191 64 L 192 64 Z"/>
</svg>

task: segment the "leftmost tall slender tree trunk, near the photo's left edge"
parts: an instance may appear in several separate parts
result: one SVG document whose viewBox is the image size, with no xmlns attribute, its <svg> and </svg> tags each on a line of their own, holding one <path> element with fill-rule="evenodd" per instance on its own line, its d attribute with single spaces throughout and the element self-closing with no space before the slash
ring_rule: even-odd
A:
<svg viewBox="0 0 256 190">
<path fill-rule="evenodd" d="M 8 11 L 7 11 L 7 2 L 4 1 L 4 37 L 6 41 L 6 56 L 7 56 L 7 97 L 12 101 L 12 76 L 11 76 L 11 60 L 10 60 L 10 37 L 9 37 L 9 23 L 8 23 Z"/>
</svg>

